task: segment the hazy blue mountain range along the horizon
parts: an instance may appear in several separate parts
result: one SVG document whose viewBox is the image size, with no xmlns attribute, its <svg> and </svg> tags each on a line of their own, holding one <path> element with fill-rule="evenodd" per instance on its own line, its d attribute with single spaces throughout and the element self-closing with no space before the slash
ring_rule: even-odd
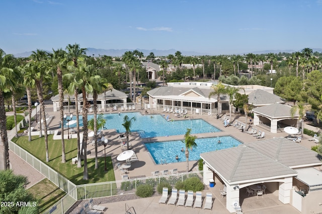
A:
<svg viewBox="0 0 322 214">
<path fill-rule="evenodd" d="M 136 49 L 140 52 L 142 52 L 144 54 L 144 56 L 148 56 L 151 52 L 154 53 L 154 56 L 168 56 L 169 54 L 173 54 L 175 55 L 175 53 L 177 52 L 177 50 L 175 49 L 169 49 L 169 50 L 156 50 L 156 49 L 152 49 L 152 50 L 145 50 L 145 49 Z M 321 48 L 312 48 L 313 53 L 314 52 L 322 52 Z M 86 55 L 88 56 L 112 56 L 112 57 L 120 57 L 122 56 L 125 52 L 127 51 L 134 51 L 134 49 L 96 49 L 96 48 L 87 48 L 87 52 Z M 302 51 L 301 50 L 297 50 L 299 52 Z M 253 53 L 253 54 L 268 54 L 268 53 L 274 53 L 274 54 L 278 54 L 278 53 L 294 53 L 297 52 L 294 50 L 266 50 L 266 51 L 253 51 L 253 52 L 245 52 L 245 53 L 232 53 L 232 54 L 239 54 L 239 55 L 244 55 L 244 54 L 249 54 L 249 53 Z M 47 51 L 49 53 L 52 53 L 52 51 Z M 183 56 L 206 56 L 206 55 L 213 55 L 213 54 L 209 54 L 209 53 L 198 53 L 198 52 L 194 52 L 194 51 L 180 51 L 182 53 Z M 29 57 L 32 54 L 32 51 L 30 52 L 24 52 L 24 53 L 20 53 L 20 54 L 14 54 L 15 57 Z M 231 55 L 232 55 L 231 54 Z"/>
</svg>

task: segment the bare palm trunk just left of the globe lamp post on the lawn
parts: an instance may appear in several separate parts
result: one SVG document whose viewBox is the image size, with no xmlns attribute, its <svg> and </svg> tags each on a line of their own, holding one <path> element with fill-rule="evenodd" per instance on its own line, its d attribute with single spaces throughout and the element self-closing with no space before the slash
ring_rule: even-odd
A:
<svg viewBox="0 0 322 214">
<path fill-rule="evenodd" d="M 65 156 L 65 139 L 64 139 L 64 92 L 62 88 L 62 72 L 59 67 L 57 67 L 57 81 L 58 81 L 58 94 L 59 94 L 59 113 L 60 113 L 60 132 L 61 132 L 61 162 L 66 162 Z M 69 106 L 69 100 L 68 100 Z M 69 132 L 69 130 L 68 130 Z"/>
</svg>

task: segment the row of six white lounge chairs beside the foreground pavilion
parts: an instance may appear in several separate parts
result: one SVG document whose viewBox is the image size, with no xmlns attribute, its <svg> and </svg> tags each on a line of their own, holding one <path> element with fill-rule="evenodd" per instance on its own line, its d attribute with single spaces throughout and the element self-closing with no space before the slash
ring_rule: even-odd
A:
<svg viewBox="0 0 322 214">
<path fill-rule="evenodd" d="M 173 204 L 177 206 L 190 206 L 194 208 L 202 208 L 202 193 L 201 191 L 196 191 L 196 196 L 194 196 L 194 193 L 192 190 L 188 190 L 187 197 L 186 197 L 186 191 L 184 189 L 178 190 L 176 188 L 173 188 L 171 191 L 171 195 L 169 197 L 168 195 L 168 188 L 164 187 L 162 190 L 162 196 L 159 199 L 159 203 L 167 203 L 168 205 Z M 206 202 L 204 204 L 204 209 L 212 209 L 212 193 L 207 192 L 206 194 Z"/>
</svg>

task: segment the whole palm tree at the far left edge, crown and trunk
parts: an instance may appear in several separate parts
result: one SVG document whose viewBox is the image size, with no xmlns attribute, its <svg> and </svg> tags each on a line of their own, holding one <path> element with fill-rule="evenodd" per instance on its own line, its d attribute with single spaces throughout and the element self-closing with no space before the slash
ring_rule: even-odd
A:
<svg viewBox="0 0 322 214">
<path fill-rule="evenodd" d="M 7 118 L 6 118 L 6 109 L 5 109 L 5 94 L 10 92 L 10 86 L 13 84 L 11 75 L 13 69 L 5 67 L 4 58 L 6 53 L 0 49 L 0 135 L 1 140 L 4 144 L 4 168 L 10 169 L 10 160 L 9 160 L 9 143 L 7 135 Z"/>
</svg>

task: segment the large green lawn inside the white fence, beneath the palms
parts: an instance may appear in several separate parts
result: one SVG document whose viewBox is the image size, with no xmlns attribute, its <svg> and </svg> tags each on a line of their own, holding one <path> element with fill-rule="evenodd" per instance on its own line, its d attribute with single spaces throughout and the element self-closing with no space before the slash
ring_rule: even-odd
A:
<svg viewBox="0 0 322 214">
<path fill-rule="evenodd" d="M 28 136 L 13 138 L 12 140 L 46 163 L 44 137 L 32 136 L 32 141 L 30 142 L 28 141 Z M 83 180 L 84 167 L 77 168 L 77 164 L 71 163 L 71 158 L 77 156 L 77 139 L 65 140 L 66 163 L 61 162 L 61 140 L 53 140 L 53 135 L 48 135 L 48 153 L 49 162 L 46 164 L 76 185 L 115 180 L 111 157 L 106 157 L 107 172 L 104 171 L 104 157 L 98 158 L 98 169 L 95 169 L 95 158 L 87 159 L 89 180 Z M 82 166 L 84 166 L 83 161 Z"/>
</svg>

